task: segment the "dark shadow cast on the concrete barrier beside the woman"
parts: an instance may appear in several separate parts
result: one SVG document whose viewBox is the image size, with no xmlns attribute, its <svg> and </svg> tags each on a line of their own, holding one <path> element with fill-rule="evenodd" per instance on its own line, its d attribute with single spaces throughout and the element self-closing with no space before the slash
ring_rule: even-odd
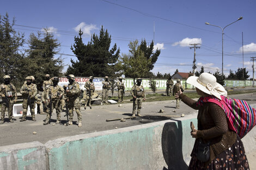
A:
<svg viewBox="0 0 256 170">
<path fill-rule="evenodd" d="M 181 121 L 164 124 L 162 131 L 162 152 L 168 168 L 163 170 L 185 170 L 188 168 L 182 155 L 182 123 Z"/>
</svg>

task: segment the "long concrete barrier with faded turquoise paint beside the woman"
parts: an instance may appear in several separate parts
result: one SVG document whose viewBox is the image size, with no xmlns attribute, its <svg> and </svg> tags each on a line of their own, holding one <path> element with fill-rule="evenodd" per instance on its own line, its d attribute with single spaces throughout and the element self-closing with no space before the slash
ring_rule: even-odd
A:
<svg viewBox="0 0 256 170">
<path fill-rule="evenodd" d="M 182 119 L 182 121 L 181 121 Z M 186 169 L 195 115 L 48 141 L 50 169 Z M 172 168 L 170 168 L 172 167 Z"/>
</svg>

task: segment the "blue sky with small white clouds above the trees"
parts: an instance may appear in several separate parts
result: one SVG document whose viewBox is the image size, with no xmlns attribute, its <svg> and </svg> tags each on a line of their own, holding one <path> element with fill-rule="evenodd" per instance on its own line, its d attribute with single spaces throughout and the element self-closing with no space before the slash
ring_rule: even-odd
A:
<svg viewBox="0 0 256 170">
<path fill-rule="evenodd" d="M 194 51 L 190 43 L 200 43 L 196 49 L 196 65 L 211 73 L 222 70 L 222 30 L 224 29 L 224 74 L 237 71 L 243 65 L 252 78 L 251 57 L 256 56 L 255 16 L 256 1 L 4 1 L 1 15 L 8 12 L 16 18 L 14 28 L 26 37 L 49 28 L 59 40 L 60 53 L 74 55 L 70 46 L 81 28 L 83 41 L 90 35 L 107 29 L 112 36 L 112 45 L 117 43 L 121 53 L 128 53 L 128 43 L 138 39 L 155 40 L 161 49 L 154 73 L 173 74 L 192 71 Z M 155 30 L 155 31 L 154 31 Z M 243 32 L 243 58 L 242 58 Z M 63 55 L 64 64 L 69 65 L 75 56 Z M 256 64 L 256 62 L 255 62 Z M 65 67 L 66 69 L 66 67 Z M 65 70 L 64 70 L 65 71 Z"/>
</svg>

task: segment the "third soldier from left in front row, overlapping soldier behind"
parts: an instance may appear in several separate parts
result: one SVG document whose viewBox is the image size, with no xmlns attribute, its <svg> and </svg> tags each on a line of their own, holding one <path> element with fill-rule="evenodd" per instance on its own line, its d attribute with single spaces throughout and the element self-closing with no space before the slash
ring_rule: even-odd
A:
<svg viewBox="0 0 256 170">
<path fill-rule="evenodd" d="M 48 90 L 46 92 L 46 96 L 47 96 L 47 100 L 48 103 L 50 104 L 50 108 L 52 109 L 49 112 L 47 112 L 47 116 L 44 122 L 44 125 L 49 124 L 50 123 L 50 119 L 51 119 L 51 113 L 53 111 L 53 109 L 56 109 L 56 114 L 57 114 L 57 121 L 56 124 L 59 124 L 60 122 L 60 99 L 62 99 L 62 96 L 64 94 L 64 89 L 62 86 L 58 85 L 59 82 L 59 78 L 58 77 L 54 77 L 52 79 L 52 86 L 48 87 Z"/>
</svg>

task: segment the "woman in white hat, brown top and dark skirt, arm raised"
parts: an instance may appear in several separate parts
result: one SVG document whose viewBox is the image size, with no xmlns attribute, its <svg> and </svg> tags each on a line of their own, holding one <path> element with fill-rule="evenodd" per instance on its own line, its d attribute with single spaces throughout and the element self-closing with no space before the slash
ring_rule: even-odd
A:
<svg viewBox="0 0 256 170">
<path fill-rule="evenodd" d="M 249 169 L 248 161 L 240 137 L 228 128 L 227 116 L 224 110 L 215 103 L 205 102 L 198 104 L 205 97 L 227 97 L 227 91 L 217 83 L 216 77 L 210 73 L 202 73 L 199 77 L 188 77 L 187 83 L 196 87 L 198 101 L 193 100 L 180 90 L 175 93 L 175 98 L 193 109 L 198 110 L 198 129 L 191 131 L 191 136 L 196 138 L 191 153 L 191 161 L 188 169 Z M 199 141 L 210 143 L 209 159 L 205 162 L 197 158 Z"/>
</svg>

